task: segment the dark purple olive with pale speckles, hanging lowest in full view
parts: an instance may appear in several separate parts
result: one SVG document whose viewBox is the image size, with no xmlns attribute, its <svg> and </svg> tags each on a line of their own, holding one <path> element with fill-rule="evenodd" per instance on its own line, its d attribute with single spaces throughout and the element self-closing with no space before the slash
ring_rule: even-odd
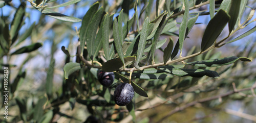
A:
<svg viewBox="0 0 256 123">
<path fill-rule="evenodd" d="M 133 86 L 128 83 L 119 84 L 114 91 L 114 101 L 118 106 L 128 105 L 134 96 Z"/>
</svg>

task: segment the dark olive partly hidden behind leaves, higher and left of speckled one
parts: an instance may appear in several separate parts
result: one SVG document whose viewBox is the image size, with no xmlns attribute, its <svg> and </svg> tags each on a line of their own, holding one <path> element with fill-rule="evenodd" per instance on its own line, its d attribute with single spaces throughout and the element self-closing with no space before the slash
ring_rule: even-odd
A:
<svg viewBox="0 0 256 123">
<path fill-rule="evenodd" d="M 101 85 L 109 87 L 112 85 L 112 83 L 114 82 L 114 72 L 105 72 L 100 70 L 98 72 L 98 80 L 100 82 Z"/>
</svg>

